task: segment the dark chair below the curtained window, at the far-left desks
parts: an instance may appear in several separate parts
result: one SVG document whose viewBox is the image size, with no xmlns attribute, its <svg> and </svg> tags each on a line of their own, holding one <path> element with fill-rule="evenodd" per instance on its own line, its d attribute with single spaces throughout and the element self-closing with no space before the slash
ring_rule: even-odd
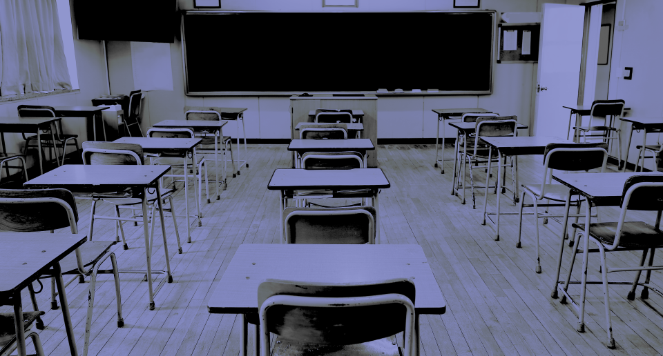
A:
<svg viewBox="0 0 663 356">
<path fill-rule="evenodd" d="M 55 108 L 52 106 L 35 106 L 35 105 L 19 105 L 18 107 L 19 117 L 57 117 L 55 115 Z M 25 154 L 28 154 L 28 148 L 34 147 L 37 148 L 37 144 L 30 144 L 30 141 L 37 141 L 37 135 L 32 135 L 26 137 L 25 133 L 21 133 L 23 139 L 26 140 Z M 55 148 L 62 148 L 61 160 L 57 160 L 58 166 L 64 165 L 64 157 L 66 156 L 67 146 L 74 146 L 76 152 L 80 152 L 78 148 L 78 135 L 65 134 L 62 130 L 62 121 L 58 120 L 55 123 L 55 132 L 53 132 L 53 139 L 55 142 L 50 139 L 49 136 L 41 135 L 41 148 L 52 147 L 55 144 Z M 57 150 L 56 150 L 57 152 Z M 56 153 L 57 154 L 57 153 Z M 44 156 L 44 152 L 41 152 L 41 157 Z"/>
</svg>

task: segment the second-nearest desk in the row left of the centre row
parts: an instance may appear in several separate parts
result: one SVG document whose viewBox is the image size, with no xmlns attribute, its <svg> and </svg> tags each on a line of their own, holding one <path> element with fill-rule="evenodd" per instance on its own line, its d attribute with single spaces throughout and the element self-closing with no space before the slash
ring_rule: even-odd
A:
<svg viewBox="0 0 663 356">
<path fill-rule="evenodd" d="M 168 281 L 173 281 L 171 275 L 171 264 L 168 255 L 168 244 L 166 244 L 166 226 L 164 224 L 164 213 L 162 210 L 161 192 L 159 191 L 159 179 L 171 170 L 171 166 L 117 166 L 117 165 L 83 165 L 67 164 L 30 179 L 23 184 L 26 188 L 46 189 L 65 188 L 73 192 L 117 192 L 125 188 L 132 188 L 140 192 L 143 200 L 143 233 L 145 238 L 145 254 L 147 259 L 147 271 L 124 270 L 122 273 L 147 273 L 150 310 L 154 310 L 154 295 L 152 289 L 152 273 L 166 273 Z M 164 253 L 166 254 L 166 271 L 152 270 L 152 254 L 150 244 L 150 231 L 147 221 L 148 188 L 153 188 L 157 194 L 157 204 L 161 219 L 161 230 L 164 236 Z M 64 304 L 64 303 L 63 303 Z"/>
</svg>

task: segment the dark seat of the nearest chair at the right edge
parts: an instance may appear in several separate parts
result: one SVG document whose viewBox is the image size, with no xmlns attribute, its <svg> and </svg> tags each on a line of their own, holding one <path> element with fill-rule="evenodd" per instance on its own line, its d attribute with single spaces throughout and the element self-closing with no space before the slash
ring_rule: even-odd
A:
<svg viewBox="0 0 663 356">
<path fill-rule="evenodd" d="M 585 230 L 585 224 L 573 224 L 574 228 Z M 599 240 L 604 245 L 612 245 L 615 242 L 617 223 L 595 223 L 589 226 L 589 235 Z M 663 231 L 654 228 L 642 221 L 625 222 L 622 226 L 622 237 L 619 239 L 619 247 L 628 248 L 660 248 L 663 247 Z"/>
</svg>

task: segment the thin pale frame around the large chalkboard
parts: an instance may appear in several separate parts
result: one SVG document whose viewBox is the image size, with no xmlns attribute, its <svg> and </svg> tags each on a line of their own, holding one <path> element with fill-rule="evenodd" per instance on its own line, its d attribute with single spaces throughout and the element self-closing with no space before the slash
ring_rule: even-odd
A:
<svg viewBox="0 0 663 356">
<path fill-rule="evenodd" d="M 184 17 L 187 14 L 205 14 L 205 15 L 220 15 L 220 14 L 244 14 L 244 13 L 260 13 L 260 12 L 273 12 L 273 11 L 229 11 L 229 10 L 184 10 L 181 12 L 181 21 L 180 21 L 180 34 L 182 39 L 182 69 L 184 72 L 184 91 L 185 95 L 191 97 L 205 97 L 205 96 L 276 96 L 276 97 L 289 97 L 291 95 L 298 95 L 302 92 L 309 92 L 311 94 L 320 94 L 320 93 L 329 93 L 332 91 L 316 91 L 316 90 L 282 90 L 282 91 L 192 91 L 189 89 L 189 73 L 187 72 L 187 56 L 186 56 L 186 34 L 185 34 L 185 21 Z M 288 11 L 292 12 L 292 11 Z M 326 12 L 326 11 L 323 11 Z M 361 12 L 361 11 L 360 11 Z M 382 11 L 382 12 L 393 12 L 399 13 L 403 11 Z M 495 57 L 495 46 L 494 40 L 497 36 L 497 11 L 495 10 L 436 10 L 436 11 L 405 11 L 405 12 L 443 12 L 443 13 L 456 13 L 456 14 L 490 14 L 492 19 L 491 23 L 491 34 L 490 37 L 490 68 L 488 72 L 488 89 L 487 90 L 439 90 L 439 91 L 428 91 L 426 89 L 431 88 L 422 88 L 421 92 L 410 92 L 406 90 L 405 92 L 394 93 L 394 92 L 376 92 L 374 90 L 351 90 L 351 91 L 340 91 L 334 90 L 334 93 L 361 93 L 361 94 L 373 94 L 378 95 L 379 97 L 390 97 L 390 96 L 443 96 L 443 95 L 491 95 L 493 88 L 493 77 L 494 77 L 494 57 Z M 295 12 L 295 13 L 311 13 L 311 12 Z M 314 12 L 319 13 L 319 12 Z M 355 13 L 353 11 L 353 13 Z M 374 12 L 366 12 L 374 13 Z M 434 60 L 434 55 L 432 55 Z M 305 88 L 302 88 L 305 89 Z M 376 88 L 377 89 L 377 88 Z"/>
</svg>

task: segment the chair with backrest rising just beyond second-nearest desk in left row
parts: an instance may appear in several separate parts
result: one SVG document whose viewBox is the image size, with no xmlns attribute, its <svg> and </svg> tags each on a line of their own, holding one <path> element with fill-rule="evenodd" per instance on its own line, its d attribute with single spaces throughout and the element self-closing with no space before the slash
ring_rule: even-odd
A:
<svg viewBox="0 0 663 356">
<path fill-rule="evenodd" d="M 106 165 L 142 165 L 144 164 L 143 149 L 140 145 L 136 144 L 118 144 L 114 142 L 97 142 L 86 141 L 83 143 L 83 164 L 106 164 Z M 169 208 L 164 208 L 164 211 L 171 212 L 173 217 L 173 225 L 175 226 L 175 237 L 177 238 L 177 251 L 182 253 L 182 245 L 180 244 L 180 233 L 177 230 L 177 219 L 175 219 L 175 206 L 173 206 L 172 189 L 159 188 L 162 201 L 168 200 Z M 90 230 L 88 237 L 92 239 L 93 230 L 96 219 L 113 220 L 115 222 L 115 241 L 119 242 L 119 233 L 122 235 L 123 248 L 128 250 L 126 239 L 124 238 L 124 228 L 122 221 L 133 221 L 135 223 L 142 222 L 142 219 L 135 219 L 135 214 L 131 218 L 122 218 L 119 209 L 126 208 L 132 210 L 142 209 L 142 196 L 143 192 L 132 192 L 125 190 L 123 192 L 93 192 L 77 194 L 78 198 L 92 199 L 92 208 L 90 212 Z M 106 203 L 113 204 L 115 208 L 115 216 L 108 217 L 104 215 L 95 215 L 97 201 L 102 200 Z M 154 212 L 157 206 L 156 192 L 148 192 L 146 197 L 148 206 L 151 206 L 152 213 L 150 219 L 150 248 L 154 237 Z M 189 239 L 189 242 L 191 240 Z M 147 247 L 147 246 L 146 246 Z M 166 235 L 164 234 L 164 250 L 166 250 Z M 166 251 L 166 266 L 168 266 L 168 253 Z M 170 276 L 170 274 L 169 274 Z M 171 279 L 172 277 L 169 277 Z"/>
</svg>

